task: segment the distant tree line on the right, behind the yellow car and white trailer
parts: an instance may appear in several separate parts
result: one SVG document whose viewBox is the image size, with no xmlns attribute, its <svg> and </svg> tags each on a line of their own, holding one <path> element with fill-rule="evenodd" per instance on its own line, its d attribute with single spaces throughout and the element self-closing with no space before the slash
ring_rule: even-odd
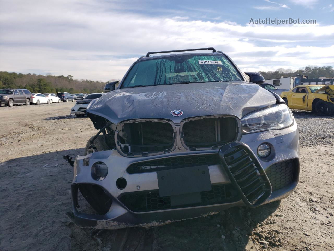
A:
<svg viewBox="0 0 334 251">
<path fill-rule="evenodd" d="M 260 71 L 259 73 L 261 73 L 265 79 L 274 79 L 281 77 L 284 78 L 297 77 L 297 74 L 308 76 L 309 79 L 320 78 L 320 77 L 326 77 L 326 78 L 334 77 L 333 66 L 323 66 L 323 67 L 306 66 L 297 71 L 291 69 L 279 68 L 276 71 L 268 71 L 268 72 Z"/>
</svg>

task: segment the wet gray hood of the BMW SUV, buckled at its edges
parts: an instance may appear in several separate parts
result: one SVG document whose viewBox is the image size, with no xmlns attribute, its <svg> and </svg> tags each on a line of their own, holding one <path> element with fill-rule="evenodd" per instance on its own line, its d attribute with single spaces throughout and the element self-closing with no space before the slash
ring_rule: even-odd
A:
<svg viewBox="0 0 334 251">
<path fill-rule="evenodd" d="M 128 119 L 160 118 L 175 123 L 206 115 L 243 115 L 276 103 L 274 95 L 249 82 L 209 82 L 117 89 L 95 99 L 87 112 L 117 124 Z M 171 111 L 182 110 L 179 117 Z"/>
</svg>

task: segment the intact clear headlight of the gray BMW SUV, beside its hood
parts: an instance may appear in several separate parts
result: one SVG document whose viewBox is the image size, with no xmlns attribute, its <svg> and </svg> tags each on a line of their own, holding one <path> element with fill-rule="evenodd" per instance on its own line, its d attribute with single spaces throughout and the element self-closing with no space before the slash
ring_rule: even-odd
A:
<svg viewBox="0 0 334 251">
<path fill-rule="evenodd" d="M 286 104 L 278 104 L 241 118 L 242 133 L 278 130 L 291 126 L 293 115 Z"/>
</svg>

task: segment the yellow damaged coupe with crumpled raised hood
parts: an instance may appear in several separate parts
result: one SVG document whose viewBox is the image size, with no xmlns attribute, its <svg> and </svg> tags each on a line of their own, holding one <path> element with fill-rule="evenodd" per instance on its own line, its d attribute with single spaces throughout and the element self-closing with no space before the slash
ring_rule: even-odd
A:
<svg viewBox="0 0 334 251">
<path fill-rule="evenodd" d="M 281 97 L 291 109 L 314 111 L 319 115 L 334 113 L 334 85 L 299 85 L 283 91 Z"/>
</svg>

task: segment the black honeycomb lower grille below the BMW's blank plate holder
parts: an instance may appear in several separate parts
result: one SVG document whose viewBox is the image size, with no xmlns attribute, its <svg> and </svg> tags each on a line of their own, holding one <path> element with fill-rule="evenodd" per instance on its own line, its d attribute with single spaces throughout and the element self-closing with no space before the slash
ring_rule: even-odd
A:
<svg viewBox="0 0 334 251">
<path fill-rule="evenodd" d="M 120 195 L 119 200 L 134 212 L 165 210 L 193 205 L 172 206 L 171 197 L 159 196 L 159 190 L 125 193 Z M 213 185 L 212 190 L 201 192 L 201 200 L 202 202 L 197 203 L 197 206 L 229 203 L 239 200 L 239 197 L 236 196 L 230 184 Z"/>
</svg>

